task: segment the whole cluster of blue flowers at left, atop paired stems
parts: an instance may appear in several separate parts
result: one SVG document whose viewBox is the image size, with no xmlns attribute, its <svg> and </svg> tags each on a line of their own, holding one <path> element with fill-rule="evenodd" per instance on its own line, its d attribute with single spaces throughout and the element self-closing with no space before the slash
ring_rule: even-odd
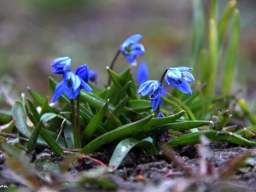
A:
<svg viewBox="0 0 256 192">
<path fill-rule="evenodd" d="M 68 57 L 60 57 L 51 62 L 52 73 L 62 74 L 63 80 L 56 85 L 52 102 L 55 102 L 62 94 L 66 94 L 69 99 L 75 99 L 80 90 L 92 92 L 87 84 L 89 80 L 96 82 L 97 74 L 90 71 L 86 64 L 77 67 L 75 73 L 70 72 L 72 60 Z"/>
</svg>

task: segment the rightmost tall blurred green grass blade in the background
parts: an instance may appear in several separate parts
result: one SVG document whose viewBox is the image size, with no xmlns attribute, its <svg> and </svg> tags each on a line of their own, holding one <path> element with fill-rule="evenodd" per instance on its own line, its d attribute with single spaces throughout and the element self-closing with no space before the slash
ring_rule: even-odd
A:
<svg viewBox="0 0 256 192">
<path fill-rule="evenodd" d="M 236 56 L 240 37 L 240 20 L 239 11 L 234 12 L 234 20 L 232 24 L 232 33 L 230 35 L 230 44 L 227 51 L 226 61 L 224 64 L 224 79 L 222 84 L 222 93 L 230 94 L 232 82 L 236 68 Z"/>
</svg>

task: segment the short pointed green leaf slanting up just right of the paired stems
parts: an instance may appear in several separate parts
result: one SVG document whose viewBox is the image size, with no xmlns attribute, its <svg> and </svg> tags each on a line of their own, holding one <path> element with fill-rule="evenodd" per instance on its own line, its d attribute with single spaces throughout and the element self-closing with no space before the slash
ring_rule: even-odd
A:
<svg viewBox="0 0 256 192">
<path fill-rule="evenodd" d="M 83 137 L 85 143 L 89 142 L 90 137 L 96 131 L 96 129 L 98 128 L 98 125 L 100 124 L 102 119 L 105 117 L 106 113 L 108 112 L 108 104 L 109 104 L 109 100 L 98 111 L 98 113 L 96 113 L 96 115 L 93 117 L 93 119 L 90 120 L 90 123 L 84 129 L 82 137 Z"/>
</svg>

